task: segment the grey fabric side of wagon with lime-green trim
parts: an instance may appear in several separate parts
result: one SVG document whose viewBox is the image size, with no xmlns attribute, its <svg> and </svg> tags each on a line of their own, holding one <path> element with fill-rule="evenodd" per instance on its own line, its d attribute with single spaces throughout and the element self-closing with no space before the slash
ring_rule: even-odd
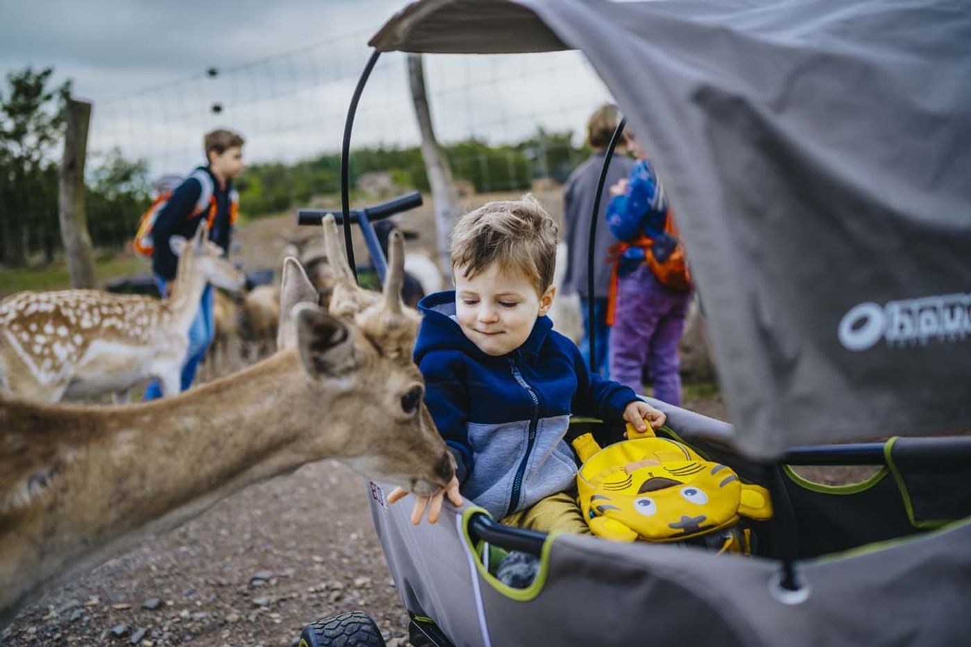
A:
<svg viewBox="0 0 971 647">
<path fill-rule="evenodd" d="M 731 426 L 658 406 L 674 432 L 712 460 L 746 480 L 763 475 L 732 451 Z M 590 421 L 577 426 L 602 441 L 618 435 Z M 652 636 L 679 644 L 959 644 L 971 631 L 965 611 L 971 484 L 956 461 L 930 469 L 915 460 L 928 441 L 944 443 L 931 450 L 935 456 L 946 454 L 951 442 L 889 442 L 887 466 L 842 490 L 787 470 L 800 529 L 798 573 L 808 587 L 804 599 L 773 593 L 779 562 L 772 559 L 777 539 L 771 522 L 755 528 L 760 548 L 751 558 L 551 535 L 536 581 L 514 590 L 478 559 L 481 551 L 467 528 L 481 509 L 447 505 L 437 525 L 413 527 L 410 506 L 385 506 L 388 488 L 374 484 L 371 509 L 406 607 L 456 645 L 643 644 Z"/>
</svg>

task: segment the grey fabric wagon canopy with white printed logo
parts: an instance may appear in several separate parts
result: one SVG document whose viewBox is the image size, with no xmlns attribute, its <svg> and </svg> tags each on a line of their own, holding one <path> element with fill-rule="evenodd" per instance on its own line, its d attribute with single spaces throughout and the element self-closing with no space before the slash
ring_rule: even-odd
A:
<svg viewBox="0 0 971 647">
<path fill-rule="evenodd" d="M 371 45 L 584 52 L 665 182 L 750 456 L 971 424 L 971 4 L 425 0 Z"/>
</svg>

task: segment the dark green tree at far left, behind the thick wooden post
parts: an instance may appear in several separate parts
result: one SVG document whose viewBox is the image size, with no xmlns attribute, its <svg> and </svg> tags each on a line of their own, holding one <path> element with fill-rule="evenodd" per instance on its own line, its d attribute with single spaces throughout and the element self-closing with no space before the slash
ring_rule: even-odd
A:
<svg viewBox="0 0 971 647">
<path fill-rule="evenodd" d="M 0 89 L 0 262 L 12 265 L 23 265 L 32 246 L 50 257 L 56 245 L 51 153 L 63 135 L 71 82 L 51 87 L 52 73 L 27 67 L 8 74 L 7 89 Z"/>
</svg>

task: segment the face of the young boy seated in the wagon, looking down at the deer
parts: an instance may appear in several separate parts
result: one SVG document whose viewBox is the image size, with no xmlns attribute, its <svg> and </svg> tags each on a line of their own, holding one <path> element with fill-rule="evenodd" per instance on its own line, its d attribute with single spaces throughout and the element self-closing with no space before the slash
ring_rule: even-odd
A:
<svg viewBox="0 0 971 647">
<path fill-rule="evenodd" d="M 493 263 L 474 279 L 455 268 L 455 318 L 462 332 L 485 355 L 506 355 L 519 348 L 537 317 L 546 315 L 556 289 L 542 296 L 518 272 L 505 273 Z"/>
</svg>

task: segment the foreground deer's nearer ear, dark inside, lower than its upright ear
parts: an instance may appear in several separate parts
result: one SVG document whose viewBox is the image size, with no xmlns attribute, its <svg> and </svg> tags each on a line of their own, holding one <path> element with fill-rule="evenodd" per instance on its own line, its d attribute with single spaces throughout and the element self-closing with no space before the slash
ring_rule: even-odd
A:
<svg viewBox="0 0 971 647">
<path fill-rule="evenodd" d="M 357 367 L 351 325 L 320 308 L 297 308 L 297 349 L 313 377 L 342 377 Z"/>
</svg>

